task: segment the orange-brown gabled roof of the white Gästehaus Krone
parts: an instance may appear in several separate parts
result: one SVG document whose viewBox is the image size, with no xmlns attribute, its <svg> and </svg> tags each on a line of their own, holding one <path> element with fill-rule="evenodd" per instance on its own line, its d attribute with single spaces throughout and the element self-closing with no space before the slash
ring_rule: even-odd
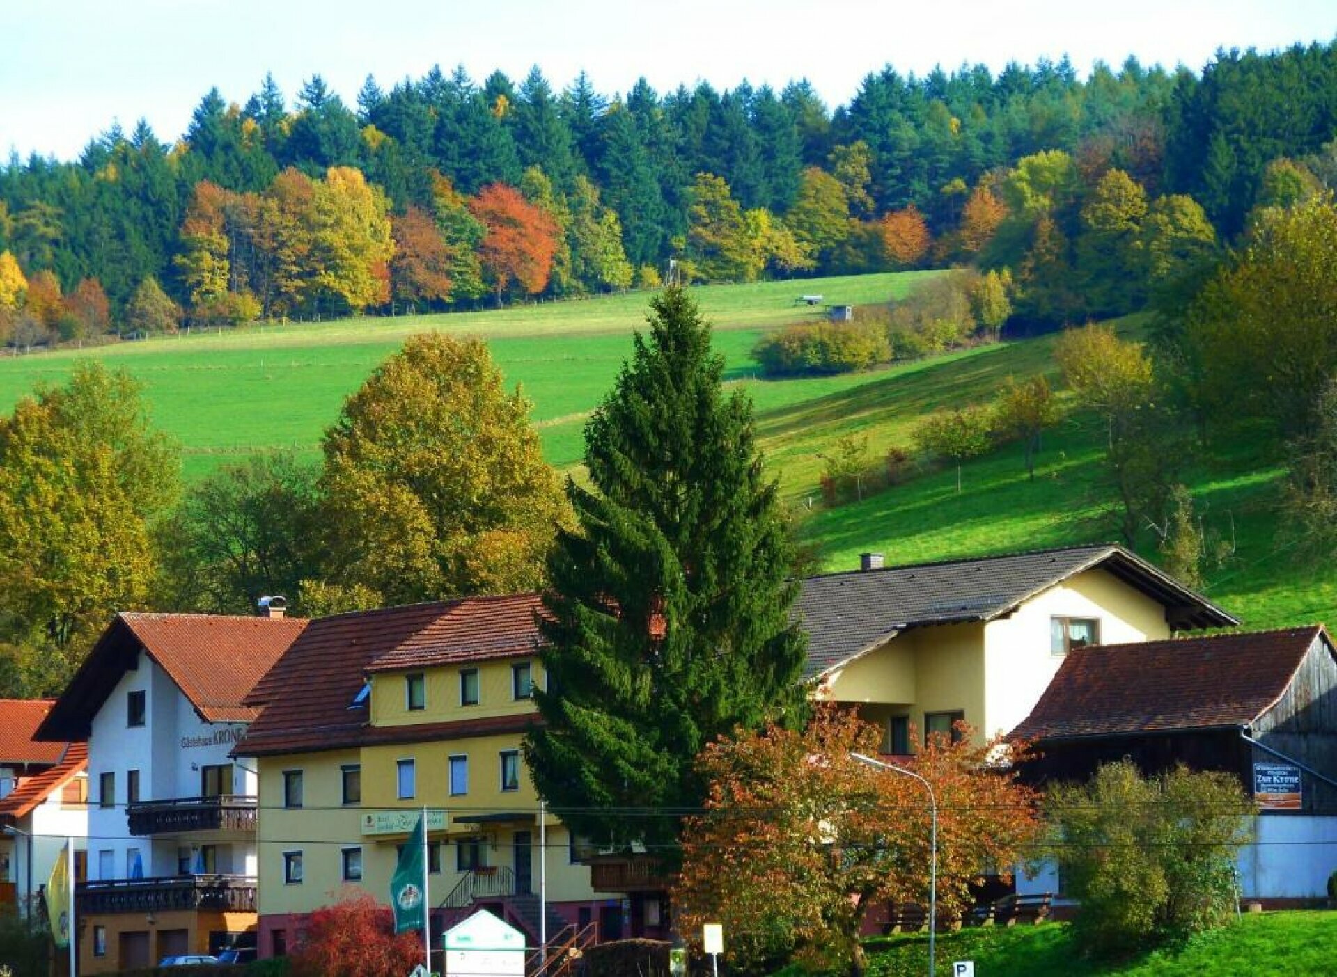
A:
<svg viewBox="0 0 1337 977">
<path fill-rule="evenodd" d="M 47 719 L 41 739 L 88 738 L 94 715 L 139 650 L 167 674 L 206 722 L 250 722 L 251 687 L 302 634 L 298 617 L 119 613 L 88 652 Z"/>
</svg>

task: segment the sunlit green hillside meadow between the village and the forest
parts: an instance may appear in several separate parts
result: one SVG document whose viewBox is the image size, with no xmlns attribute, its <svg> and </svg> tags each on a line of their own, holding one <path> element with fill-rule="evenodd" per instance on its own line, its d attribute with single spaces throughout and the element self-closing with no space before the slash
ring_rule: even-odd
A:
<svg viewBox="0 0 1337 977">
<path fill-rule="evenodd" d="M 949 559 L 1114 539 L 1099 485 L 1103 429 L 1070 416 L 1048 432 L 1035 478 L 1020 446 L 1005 446 L 956 472 L 910 462 L 902 484 L 874 485 L 862 501 L 822 504 L 822 456 L 845 434 L 866 436 L 874 465 L 888 448 L 910 448 L 925 413 L 984 402 L 1007 377 L 1054 373 L 1052 337 L 953 353 L 840 377 L 758 378 L 750 350 L 765 331 L 813 321 L 822 310 L 797 302 L 862 305 L 902 295 L 932 273 L 709 286 L 694 294 L 715 326 L 726 378 L 747 392 L 761 445 L 800 535 L 826 568 L 857 565 L 880 551 L 889 563 Z M 631 352 L 644 323 L 648 295 L 512 306 L 501 310 L 328 323 L 254 326 L 182 334 L 87 350 L 57 350 L 0 360 L 0 409 L 37 382 L 59 382 L 90 356 L 138 377 L 154 420 L 182 446 L 187 480 L 246 456 L 295 450 L 314 461 L 321 432 L 344 397 L 405 335 L 428 329 L 480 335 L 508 384 L 533 401 L 532 418 L 548 460 L 575 470 L 582 430 Z M 1138 323 L 1124 323 L 1136 333 Z M 1262 437 L 1215 446 L 1185 472 L 1219 560 L 1207 568 L 1207 595 L 1250 627 L 1337 621 L 1337 581 L 1293 559 L 1294 540 L 1278 525 L 1282 470 Z M 874 481 L 880 481 L 874 478 Z M 1155 559 L 1148 531 L 1139 540 Z"/>
</svg>

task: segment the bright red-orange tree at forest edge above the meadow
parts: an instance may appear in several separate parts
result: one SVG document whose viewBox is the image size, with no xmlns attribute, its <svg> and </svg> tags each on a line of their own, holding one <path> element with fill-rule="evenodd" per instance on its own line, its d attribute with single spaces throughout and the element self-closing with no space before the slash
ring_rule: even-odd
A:
<svg viewBox="0 0 1337 977">
<path fill-rule="evenodd" d="M 558 226 L 515 187 L 491 183 L 469 202 L 473 217 L 487 229 L 479 257 L 497 305 L 512 285 L 537 295 L 548 285 L 558 250 Z"/>
</svg>

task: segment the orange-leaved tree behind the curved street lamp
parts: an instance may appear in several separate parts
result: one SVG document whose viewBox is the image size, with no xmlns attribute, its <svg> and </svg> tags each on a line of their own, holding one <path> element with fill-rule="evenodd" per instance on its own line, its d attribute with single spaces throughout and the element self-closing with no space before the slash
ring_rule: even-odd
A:
<svg viewBox="0 0 1337 977">
<path fill-rule="evenodd" d="M 804 732 L 769 728 L 721 739 L 698 758 L 705 814 L 683 831 L 674 889 L 679 932 L 723 924 L 743 969 L 797 954 L 864 972 L 860 932 L 888 902 L 924 905 L 929 803 L 924 785 L 877 770 L 881 731 L 836 706 Z M 1009 764 L 1017 748 L 929 736 L 913 759 L 937 795 L 937 913 L 971 905 L 985 866 L 1005 871 L 1036 838 L 1032 793 Z"/>
</svg>

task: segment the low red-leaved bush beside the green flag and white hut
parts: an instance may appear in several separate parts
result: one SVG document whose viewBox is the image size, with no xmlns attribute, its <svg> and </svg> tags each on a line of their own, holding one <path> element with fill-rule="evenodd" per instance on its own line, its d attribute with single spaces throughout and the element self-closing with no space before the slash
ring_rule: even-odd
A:
<svg viewBox="0 0 1337 977">
<path fill-rule="evenodd" d="M 312 913 L 293 953 L 294 977 L 402 977 L 422 962 L 420 934 L 394 933 L 389 906 L 349 890 Z"/>
</svg>

